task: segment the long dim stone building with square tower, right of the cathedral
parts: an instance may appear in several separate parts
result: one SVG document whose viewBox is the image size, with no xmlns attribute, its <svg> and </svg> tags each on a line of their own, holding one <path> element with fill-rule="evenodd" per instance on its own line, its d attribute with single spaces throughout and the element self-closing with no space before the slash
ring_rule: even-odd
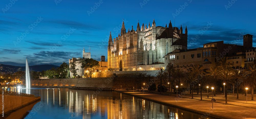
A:
<svg viewBox="0 0 256 119">
<path fill-rule="evenodd" d="M 244 35 L 242 46 L 217 41 L 203 44 L 203 48 L 176 49 L 165 55 L 165 67 L 172 65 L 176 68 L 188 68 L 193 64 L 199 64 L 205 68 L 210 68 L 210 65 L 215 65 L 221 57 L 227 56 L 228 62 L 234 64 L 233 69 L 243 69 L 248 66 L 248 63 L 254 61 L 253 54 L 255 53 L 253 51 L 255 52 L 255 50 L 248 50 L 254 48 L 252 47 L 252 36 L 250 34 Z M 244 64 L 245 62 L 248 63 Z"/>
</svg>

